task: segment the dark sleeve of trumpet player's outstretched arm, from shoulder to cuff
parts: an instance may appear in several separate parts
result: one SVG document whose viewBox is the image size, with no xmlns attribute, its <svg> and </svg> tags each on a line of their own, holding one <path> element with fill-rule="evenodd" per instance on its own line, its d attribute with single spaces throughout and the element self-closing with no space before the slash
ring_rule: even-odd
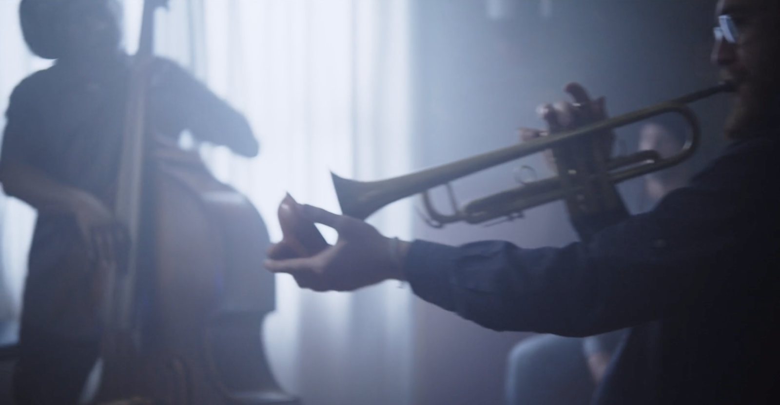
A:
<svg viewBox="0 0 780 405">
<path fill-rule="evenodd" d="M 780 151 L 767 138 L 731 147 L 690 187 L 589 243 L 418 240 L 406 277 L 422 299 L 495 330 L 592 336 L 701 311 L 757 288 L 777 260 Z"/>
</svg>

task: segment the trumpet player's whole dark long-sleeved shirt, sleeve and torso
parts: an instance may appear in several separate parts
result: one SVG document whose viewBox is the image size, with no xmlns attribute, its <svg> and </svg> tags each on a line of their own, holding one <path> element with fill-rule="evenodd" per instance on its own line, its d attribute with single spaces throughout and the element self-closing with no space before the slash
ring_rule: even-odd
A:
<svg viewBox="0 0 780 405">
<path fill-rule="evenodd" d="M 418 240 L 410 285 L 498 331 L 632 327 L 599 404 L 777 403 L 780 131 L 771 132 L 732 144 L 690 187 L 588 243 Z"/>
</svg>

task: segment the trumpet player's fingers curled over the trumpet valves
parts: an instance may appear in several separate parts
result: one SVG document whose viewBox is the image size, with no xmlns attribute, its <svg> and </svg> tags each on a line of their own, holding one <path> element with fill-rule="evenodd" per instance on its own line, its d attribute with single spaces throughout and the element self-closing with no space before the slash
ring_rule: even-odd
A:
<svg viewBox="0 0 780 405">
<path fill-rule="evenodd" d="M 600 97 L 595 100 L 590 98 L 588 91 L 580 83 L 569 83 L 564 87 L 573 101 L 557 101 L 552 104 L 543 104 L 537 107 L 539 118 L 547 123 L 547 130 L 537 130 L 532 128 L 520 128 L 520 140 L 527 142 L 566 130 L 576 130 L 581 126 L 608 118 L 605 98 Z M 615 141 L 613 131 L 597 133 L 594 135 L 599 139 L 599 147 L 609 156 L 612 153 L 612 143 Z M 558 171 L 558 165 L 551 151 L 544 151 L 544 160 L 549 169 L 553 172 Z"/>
</svg>

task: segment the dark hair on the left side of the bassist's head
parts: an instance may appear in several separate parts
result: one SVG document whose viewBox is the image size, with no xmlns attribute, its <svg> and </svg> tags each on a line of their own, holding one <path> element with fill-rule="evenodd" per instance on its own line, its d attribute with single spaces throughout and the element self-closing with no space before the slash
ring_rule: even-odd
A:
<svg viewBox="0 0 780 405">
<path fill-rule="evenodd" d="M 30 52 L 44 59 L 62 57 L 65 15 L 69 1 L 73 0 L 22 0 L 19 19 L 24 41 Z"/>
</svg>

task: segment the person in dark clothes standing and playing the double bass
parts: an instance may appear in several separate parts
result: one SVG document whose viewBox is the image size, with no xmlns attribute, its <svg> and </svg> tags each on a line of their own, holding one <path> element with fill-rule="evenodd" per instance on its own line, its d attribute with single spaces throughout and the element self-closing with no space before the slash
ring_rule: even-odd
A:
<svg viewBox="0 0 780 405">
<path fill-rule="evenodd" d="M 121 12 L 115 0 L 20 3 L 30 50 L 56 59 L 13 91 L 0 157 L 5 192 L 38 212 L 13 381 L 20 405 L 76 403 L 99 354 L 90 286 L 121 228 L 112 211 L 132 66 L 120 46 Z M 257 155 L 239 112 L 174 62 L 155 59 L 152 72 L 150 139 L 172 144 L 190 130 Z"/>
</svg>

